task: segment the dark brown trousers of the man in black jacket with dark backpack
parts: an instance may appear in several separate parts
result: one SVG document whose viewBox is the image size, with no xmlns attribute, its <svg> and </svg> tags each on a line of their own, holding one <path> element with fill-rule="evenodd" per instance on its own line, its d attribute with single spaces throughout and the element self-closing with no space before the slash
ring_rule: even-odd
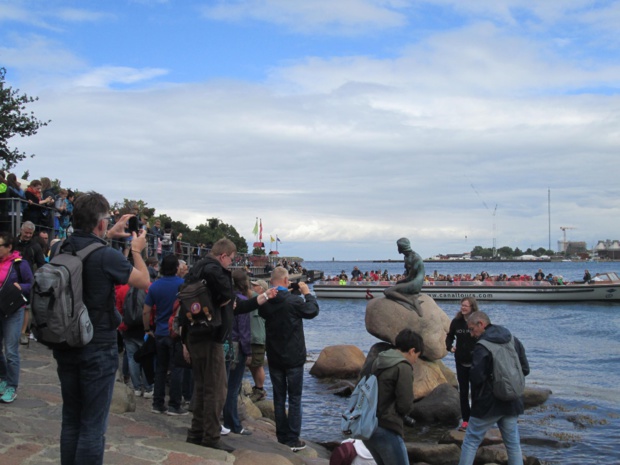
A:
<svg viewBox="0 0 620 465">
<path fill-rule="evenodd" d="M 220 439 L 220 415 L 226 401 L 226 363 L 222 344 L 203 340 L 189 345 L 194 375 L 194 411 L 188 437 L 206 444 Z"/>
</svg>

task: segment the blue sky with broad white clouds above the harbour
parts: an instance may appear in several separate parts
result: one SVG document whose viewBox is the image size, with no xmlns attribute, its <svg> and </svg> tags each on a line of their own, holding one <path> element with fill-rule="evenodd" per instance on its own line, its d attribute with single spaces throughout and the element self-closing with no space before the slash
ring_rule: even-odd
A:
<svg viewBox="0 0 620 465">
<path fill-rule="evenodd" d="M 620 239 L 620 1 L 0 0 L 13 171 L 305 260 Z"/>
</svg>

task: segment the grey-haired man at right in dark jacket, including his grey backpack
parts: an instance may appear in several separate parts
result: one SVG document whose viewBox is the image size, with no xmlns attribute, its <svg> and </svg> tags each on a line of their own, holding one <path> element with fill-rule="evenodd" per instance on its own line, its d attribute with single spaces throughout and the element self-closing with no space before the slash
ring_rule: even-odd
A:
<svg viewBox="0 0 620 465">
<path fill-rule="evenodd" d="M 524 377 L 530 372 L 521 342 L 484 312 L 467 320 L 478 339 L 470 370 L 472 406 L 459 465 L 472 465 L 478 446 L 495 424 L 508 451 L 508 465 L 523 465 L 517 420 L 523 413 Z"/>
</svg>

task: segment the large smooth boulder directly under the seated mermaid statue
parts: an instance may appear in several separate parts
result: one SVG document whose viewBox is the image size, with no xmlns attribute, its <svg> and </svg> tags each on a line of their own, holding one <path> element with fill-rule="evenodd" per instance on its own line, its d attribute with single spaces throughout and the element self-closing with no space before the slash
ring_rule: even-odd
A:
<svg viewBox="0 0 620 465">
<path fill-rule="evenodd" d="M 382 341 L 394 343 L 396 335 L 410 328 L 424 339 L 424 358 L 441 360 L 446 356 L 446 335 L 450 318 L 426 294 L 418 297 L 420 315 L 390 299 L 372 299 L 366 305 L 366 330 Z"/>
</svg>

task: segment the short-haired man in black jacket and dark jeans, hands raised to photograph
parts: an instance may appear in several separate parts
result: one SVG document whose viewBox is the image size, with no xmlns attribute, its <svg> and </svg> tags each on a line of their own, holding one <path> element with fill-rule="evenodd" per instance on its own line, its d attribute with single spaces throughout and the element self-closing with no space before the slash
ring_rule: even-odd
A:
<svg viewBox="0 0 620 465">
<path fill-rule="evenodd" d="M 299 439 L 301 395 L 306 363 L 303 320 L 316 317 L 319 314 L 319 305 L 304 282 L 299 283 L 303 297 L 293 295 L 289 291 L 289 275 L 286 268 L 276 267 L 273 270 L 271 284 L 276 287 L 278 294 L 261 306 L 258 313 L 265 319 L 267 362 L 273 387 L 276 436 L 278 442 L 297 452 L 306 447 L 306 443 Z"/>
</svg>

